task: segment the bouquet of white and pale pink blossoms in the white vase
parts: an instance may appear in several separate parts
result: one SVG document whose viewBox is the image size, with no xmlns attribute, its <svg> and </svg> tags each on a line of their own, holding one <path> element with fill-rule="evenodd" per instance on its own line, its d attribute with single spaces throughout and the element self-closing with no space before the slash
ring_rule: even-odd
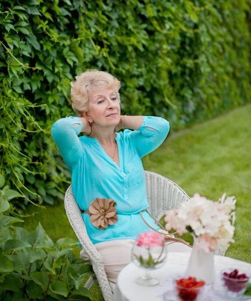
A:
<svg viewBox="0 0 251 301">
<path fill-rule="evenodd" d="M 235 197 L 226 197 L 218 202 L 195 194 L 179 209 L 169 210 L 165 216 L 165 228 L 182 235 L 190 232 L 197 238 L 196 247 L 211 252 L 219 245 L 227 249 L 233 240 L 235 221 Z"/>
</svg>

